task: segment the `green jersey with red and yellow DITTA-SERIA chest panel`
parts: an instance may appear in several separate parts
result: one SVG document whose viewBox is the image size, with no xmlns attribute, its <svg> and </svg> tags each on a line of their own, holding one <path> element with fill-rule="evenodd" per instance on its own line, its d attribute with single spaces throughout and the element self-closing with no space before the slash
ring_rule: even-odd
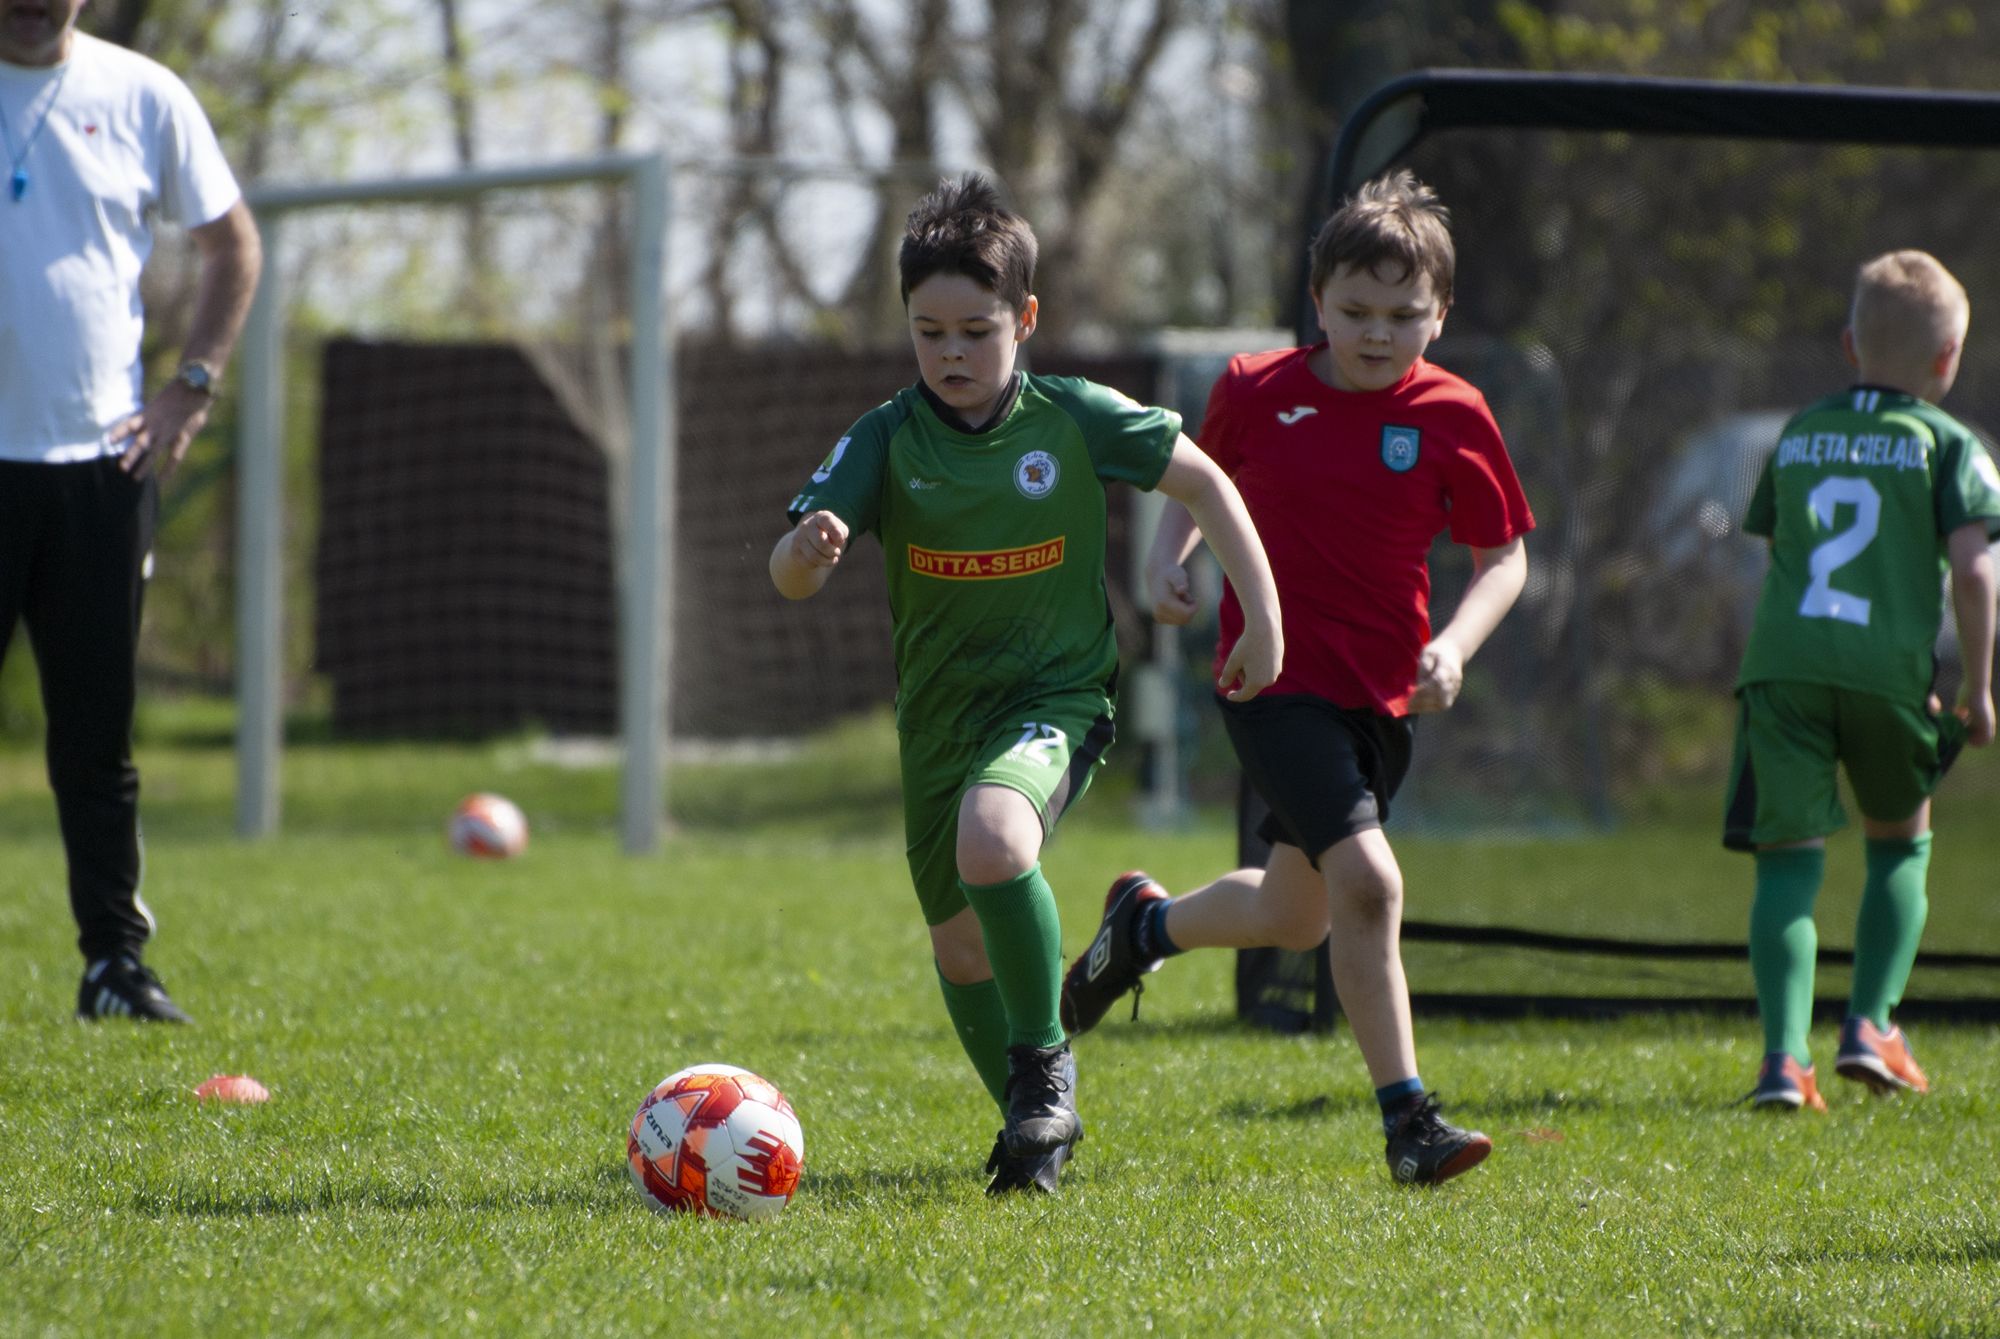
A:
<svg viewBox="0 0 2000 1339">
<path fill-rule="evenodd" d="M 882 538 L 904 731 L 972 741 L 1036 697 L 1110 693 L 1104 484 L 1154 488 L 1180 416 L 1082 378 L 1018 376 L 1014 408 L 978 434 L 918 386 L 898 392 L 788 508 L 794 524 L 824 508 Z"/>
</svg>

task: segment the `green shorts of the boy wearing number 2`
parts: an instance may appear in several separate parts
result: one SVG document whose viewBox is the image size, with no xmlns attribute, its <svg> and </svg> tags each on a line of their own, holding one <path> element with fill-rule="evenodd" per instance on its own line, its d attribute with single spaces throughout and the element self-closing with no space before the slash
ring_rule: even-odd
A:
<svg viewBox="0 0 2000 1339">
<path fill-rule="evenodd" d="M 1922 703 L 1828 683 L 1746 683 L 1736 693 L 1722 845 L 1754 851 L 1846 827 L 1836 763 L 1866 817 L 1900 823 L 1938 789 L 1964 741 L 1956 715 Z"/>
</svg>

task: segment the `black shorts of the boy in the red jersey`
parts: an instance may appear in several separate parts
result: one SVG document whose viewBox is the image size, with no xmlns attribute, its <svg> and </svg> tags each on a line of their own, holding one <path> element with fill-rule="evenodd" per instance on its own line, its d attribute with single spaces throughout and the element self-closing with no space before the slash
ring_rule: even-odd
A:
<svg viewBox="0 0 2000 1339">
<path fill-rule="evenodd" d="M 1244 779 L 1270 805 L 1268 843 L 1320 855 L 1388 821 L 1388 801 L 1410 771 L 1416 719 L 1336 707 L 1308 693 L 1216 697 Z"/>
</svg>

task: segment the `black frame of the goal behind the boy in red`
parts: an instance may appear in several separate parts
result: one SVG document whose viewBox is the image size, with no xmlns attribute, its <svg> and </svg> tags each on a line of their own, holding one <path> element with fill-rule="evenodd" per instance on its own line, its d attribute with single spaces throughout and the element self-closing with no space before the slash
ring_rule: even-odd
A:
<svg viewBox="0 0 2000 1339">
<path fill-rule="evenodd" d="M 1792 140 L 1892 148 L 2000 148 L 2000 96 L 1854 84 L 1738 84 L 1718 80 L 1644 78 L 1614 74 L 1540 74 L 1514 70 L 1418 70 L 1370 92 L 1340 128 L 1326 162 L 1308 226 L 1364 182 L 1396 166 L 1422 140 L 1448 130 L 1556 130 L 1682 136 L 1714 140 Z M 1310 236 L 1310 234 L 1308 234 Z M 1294 292 L 1308 290 L 1306 248 Z M 1316 342 L 1310 302 L 1294 330 L 1300 344 Z M 1262 865 L 1268 847 L 1256 837 L 1262 805 L 1248 787 L 1238 803 L 1238 859 Z M 1410 941 L 1510 945 L 1558 953 L 1652 959 L 1744 959 L 1742 941 L 1642 941 L 1564 935 L 1512 927 L 1404 921 Z M 1852 951 L 1820 949 L 1822 965 L 1852 963 Z M 1920 953 L 1918 965 L 2000 967 L 1994 953 Z M 1836 1001 L 1820 1001 L 1824 1011 Z M 1238 1013 L 1280 1031 L 1326 1027 L 1334 1019 L 1326 947 L 1308 953 L 1244 949 L 1236 965 Z M 1598 1017 L 1634 1009 L 1744 1011 L 1744 997 L 1574 997 L 1574 995 L 1412 995 L 1428 1011 L 1476 1015 Z M 1928 997 L 1902 1005 L 1910 1017 L 2000 1017 L 2000 999 Z"/>
</svg>

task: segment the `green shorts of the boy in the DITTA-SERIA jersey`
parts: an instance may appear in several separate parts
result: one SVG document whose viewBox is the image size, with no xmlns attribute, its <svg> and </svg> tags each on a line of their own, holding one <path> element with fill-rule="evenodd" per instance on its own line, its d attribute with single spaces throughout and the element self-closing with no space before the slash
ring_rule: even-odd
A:
<svg viewBox="0 0 2000 1339">
<path fill-rule="evenodd" d="M 1112 745 L 1102 693 L 1062 693 L 1022 707 L 1020 719 L 974 743 L 922 733 L 898 737 L 902 831 L 926 925 L 966 909 L 958 887 L 958 805 L 974 785 L 1006 785 L 1042 815 L 1042 837 L 1090 787 Z"/>
</svg>

